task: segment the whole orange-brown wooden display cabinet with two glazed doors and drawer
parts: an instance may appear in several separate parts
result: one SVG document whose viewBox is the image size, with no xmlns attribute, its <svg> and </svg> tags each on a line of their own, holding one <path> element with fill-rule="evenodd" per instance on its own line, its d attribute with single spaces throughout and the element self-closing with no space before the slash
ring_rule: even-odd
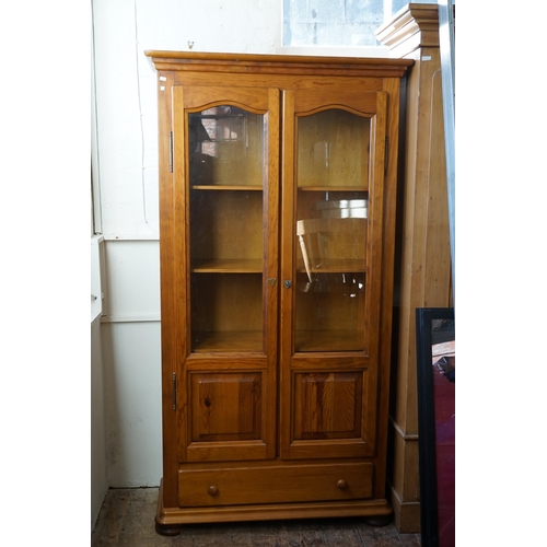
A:
<svg viewBox="0 0 547 547">
<path fill-rule="evenodd" d="M 412 61 L 147 55 L 159 74 L 158 531 L 391 516 L 397 141 Z M 356 203 L 365 213 L 342 212 Z"/>
</svg>

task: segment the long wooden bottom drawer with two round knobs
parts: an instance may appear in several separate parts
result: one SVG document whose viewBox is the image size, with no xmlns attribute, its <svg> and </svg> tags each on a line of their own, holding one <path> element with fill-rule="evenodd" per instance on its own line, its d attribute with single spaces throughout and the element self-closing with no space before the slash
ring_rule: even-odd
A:
<svg viewBox="0 0 547 547">
<path fill-rule="evenodd" d="M 372 463 L 179 470 L 181 507 L 372 497 Z"/>
</svg>

